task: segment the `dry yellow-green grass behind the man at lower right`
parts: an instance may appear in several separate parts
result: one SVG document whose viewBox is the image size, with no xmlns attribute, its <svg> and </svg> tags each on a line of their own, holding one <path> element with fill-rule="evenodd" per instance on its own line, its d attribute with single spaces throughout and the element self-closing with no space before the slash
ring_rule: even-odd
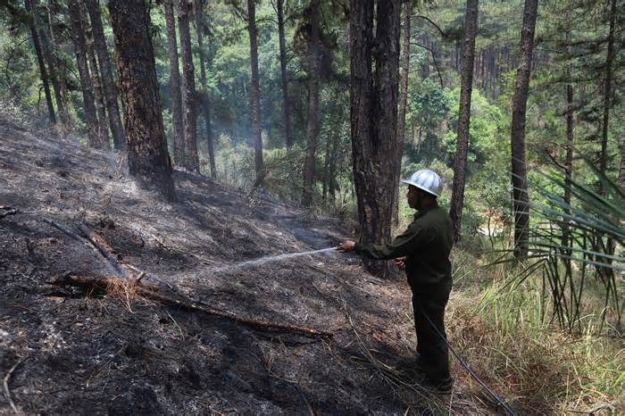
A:
<svg viewBox="0 0 625 416">
<path fill-rule="evenodd" d="M 494 278 L 486 287 L 454 293 L 446 319 L 452 345 L 479 377 L 520 414 L 625 412 L 622 335 L 597 334 L 598 316 L 590 313 L 583 334 L 565 333 L 548 323 L 551 311 L 538 277 L 505 287 L 510 272 L 489 272 Z M 453 365 L 458 381 L 482 394 L 468 373 Z"/>
</svg>

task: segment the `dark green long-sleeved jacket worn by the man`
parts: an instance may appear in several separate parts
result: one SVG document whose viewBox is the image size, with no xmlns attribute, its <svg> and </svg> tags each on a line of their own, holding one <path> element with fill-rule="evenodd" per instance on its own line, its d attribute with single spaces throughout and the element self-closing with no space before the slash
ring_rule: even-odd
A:
<svg viewBox="0 0 625 416">
<path fill-rule="evenodd" d="M 356 243 L 354 251 L 364 257 L 390 260 L 407 256 L 406 275 L 411 287 L 450 285 L 452 265 L 452 224 L 440 207 L 414 214 L 414 220 L 392 243 Z"/>
</svg>

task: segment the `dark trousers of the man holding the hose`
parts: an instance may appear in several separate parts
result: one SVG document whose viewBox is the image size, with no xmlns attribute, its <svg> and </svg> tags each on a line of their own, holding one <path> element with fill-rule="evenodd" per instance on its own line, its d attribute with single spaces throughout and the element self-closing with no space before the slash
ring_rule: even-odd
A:
<svg viewBox="0 0 625 416">
<path fill-rule="evenodd" d="M 450 291 L 451 284 L 412 287 L 419 366 L 426 377 L 434 382 L 444 381 L 450 377 L 447 345 L 437 330 L 432 328 L 434 325 L 438 332 L 446 337 L 445 307 Z"/>
</svg>

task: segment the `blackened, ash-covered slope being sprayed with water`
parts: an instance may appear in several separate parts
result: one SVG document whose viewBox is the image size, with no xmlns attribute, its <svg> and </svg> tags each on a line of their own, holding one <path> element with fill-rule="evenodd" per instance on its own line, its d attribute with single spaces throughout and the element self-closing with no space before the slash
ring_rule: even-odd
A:
<svg viewBox="0 0 625 416">
<path fill-rule="evenodd" d="M 224 267 L 335 245 L 337 221 L 306 220 L 284 204 L 249 201 L 184 172 L 175 174 L 179 201 L 167 204 L 135 187 L 114 154 L 6 122 L 0 143 L 0 205 L 19 210 L 0 220 L 0 374 L 23 359 L 9 379 L 21 412 L 389 413 L 432 405 L 367 359 L 374 354 L 390 368 L 410 355 L 403 283 L 372 278 L 344 254 Z M 335 336 L 254 329 L 50 285 L 66 271 L 112 270 L 45 218 L 70 229 L 85 222 L 145 270 L 148 284 Z M 0 395 L 0 412 L 11 409 Z"/>
</svg>

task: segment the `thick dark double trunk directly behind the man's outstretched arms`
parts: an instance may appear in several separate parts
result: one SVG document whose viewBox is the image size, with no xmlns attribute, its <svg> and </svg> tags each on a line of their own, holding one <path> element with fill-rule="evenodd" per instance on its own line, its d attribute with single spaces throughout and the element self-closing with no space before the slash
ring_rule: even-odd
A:
<svg viewBox="0 0 625 416">
<path fill-rule="evenodd" d="M 396 198 L 400 1 L 380 1 L 377 5 L 375 54 L 371 47 L 373 1 L 351 0 L 350 4 L 354 187 L 360 240 L 373 243 L 390 239 Z M 371 71 L 372 55 L 375 74 Z M 365 260 L 364 264 L 381 276 L 389 275 L 388 262 Z"/>
</svg>

